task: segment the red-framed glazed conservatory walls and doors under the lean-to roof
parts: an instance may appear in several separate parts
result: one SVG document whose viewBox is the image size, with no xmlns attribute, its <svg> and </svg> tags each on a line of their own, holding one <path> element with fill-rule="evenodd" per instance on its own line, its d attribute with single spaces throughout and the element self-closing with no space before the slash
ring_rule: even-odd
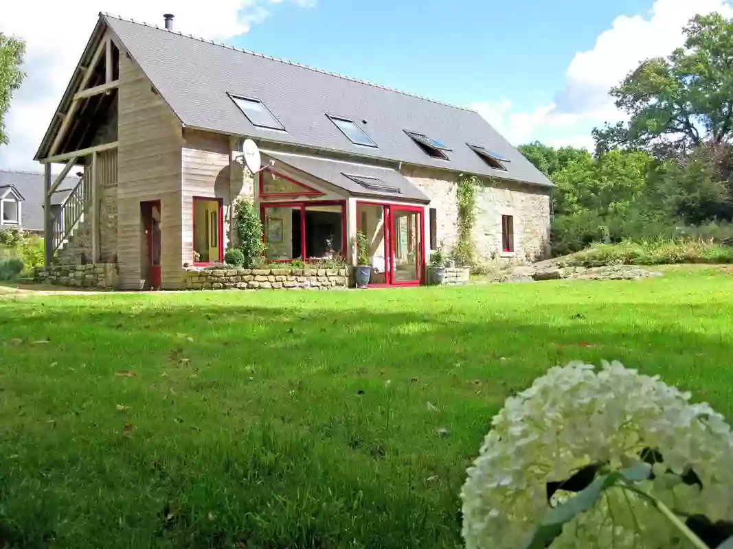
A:
<svg viewBox="0 0 733 549">
<path fill-rule="evenodd" d="M 424 206 L 393 199 L 338 198 L 271 169 L 259 174 L 258 190 L 268 261 L 350 258 L 348 242 L 356 231 L 364 231 L 372 267 L 370 286 L 424 281 Z M 349 218 L 353 214 L 356 219 Z"/>
</svg>

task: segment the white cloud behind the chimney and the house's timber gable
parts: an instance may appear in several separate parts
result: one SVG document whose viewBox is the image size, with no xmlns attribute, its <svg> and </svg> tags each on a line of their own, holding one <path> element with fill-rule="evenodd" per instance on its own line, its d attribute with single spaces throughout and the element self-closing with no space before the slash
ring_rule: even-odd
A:
<svg viewBox="0 0 733 549">
<path fill-rule="evenodd" d="M 10 1 L 10 0 L 7 0 Z M 84 51 L 100 11 L 174 28 L 210 40 L 229 40 L 270 15 L 270 4 L 290 1 L 312 7 L 316 0 L 56 0 L 16 1 L 3 7 L 0 32 L 26 40 L 26 80 L 16 91 L 5 122 L 10 145 L 0 147 L 0 168 L 37 170 L 32 158 Z"/>
</svg>

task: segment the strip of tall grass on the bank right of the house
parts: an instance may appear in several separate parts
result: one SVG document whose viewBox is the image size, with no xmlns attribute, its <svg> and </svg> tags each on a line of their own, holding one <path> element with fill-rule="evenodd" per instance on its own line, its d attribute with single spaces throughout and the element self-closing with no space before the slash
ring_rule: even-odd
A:
<svg viewBox="0 0 733 549">
<path fill-rule="evenodd" d="M 733 247 L 700 239 L 627 241 L 593 244 L 560 260 L 569 266 L 729 264 L 733 263 Z"/>
</svg>

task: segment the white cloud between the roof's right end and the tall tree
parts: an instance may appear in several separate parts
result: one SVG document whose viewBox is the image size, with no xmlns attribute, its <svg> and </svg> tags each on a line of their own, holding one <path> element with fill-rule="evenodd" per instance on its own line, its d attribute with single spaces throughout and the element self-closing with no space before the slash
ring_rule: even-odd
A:
<svg viewBox="0 0 733 549">
<path fill-rule="evenodd" d="M 644 15 L 620 15 L 591 50 L 575 53 L 550 105 L 528 112 L 512 110 L 507 100 L 472 106 L 515 145 L 541 135 L 548 143 L 592 146 L 592 127 L 623 118 L 608 90 L 640 61 L 667 56 L 682 45 L 682 27 L 694 15 L 710 12 L 733 17 L 731 0 L 656 0 Z"/>
</svg>

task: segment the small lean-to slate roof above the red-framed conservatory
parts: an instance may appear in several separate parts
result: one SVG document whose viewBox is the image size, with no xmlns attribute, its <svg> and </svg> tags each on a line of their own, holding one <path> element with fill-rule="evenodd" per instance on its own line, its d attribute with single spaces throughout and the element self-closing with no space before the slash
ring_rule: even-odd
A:
<svg viewBox="0 0 733 549">
<path fill-rule="evenodd" d="M 322 179 L 325 182 L 336 185 L 346 190 L 351 195 L 364 195 L 373 197 L 393 197 L 396 200 L 400 198 L 409 199 L 421 202 L 430 202 L 428 198 L 421 190 L 415 185 L 410 183 L 405 176 L 402 176 L 396 170 L 392 168 L 382 168 L 380 166 L 371 166 L 366 164 L 357 164 L 353 162 L 344 162 L 341 160 L 331 160 L 328 158 L 311 157 L 303 154 L 290 154 L 284 152 L 262 150 L 263 154 L 271 157 L 275 160 L 279 160 L 283 164 L 287 164 L 298 170 L 310 173 L 312 176 L 316 176 L 318 179 Z M 275 168 L 277 171 L 277 164 Z M 395 187 L 399 190 L 399 193 L 394 193 L 388 190 L 377 190 L 364 187 L 358 184 L 353 179 L 347 177 L 352 176 L 366 176 L 367 178 L 378 179 L 377 184 L 385 184 L 388 187 Z M 367 180 L 369 182 L 369 180 Z"/>
</svg>

